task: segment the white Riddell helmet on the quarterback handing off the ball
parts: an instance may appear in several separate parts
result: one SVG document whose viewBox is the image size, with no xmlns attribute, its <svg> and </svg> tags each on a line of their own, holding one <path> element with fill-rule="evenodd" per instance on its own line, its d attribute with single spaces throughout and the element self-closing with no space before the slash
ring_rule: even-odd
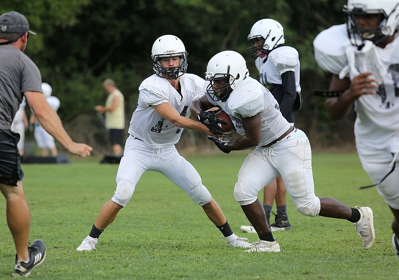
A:
<svg viewBox="0 0 399 280">
<path fill-rule="evenodd" d="M 163 35 L 159 37 L 155 40 L 151 51 L 155 74 L 168 80 L 177 80 L 177 78 L 187 71 L 187 55 L 186 47 L 178 37 L 174 35 Z M 160 58 L 174 56 L 180 56 L 180 66 L 161 66 Z"/>
</svg>

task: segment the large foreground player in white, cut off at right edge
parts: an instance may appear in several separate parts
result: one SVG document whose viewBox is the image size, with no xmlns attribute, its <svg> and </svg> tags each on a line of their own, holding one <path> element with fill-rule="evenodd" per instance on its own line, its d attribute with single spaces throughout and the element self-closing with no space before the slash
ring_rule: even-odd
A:
<svg viewBox="0 0 399 280">
<path fill-rule="evenodd" d="M 399 1 L 348 0 L 346 24 L 314 40 L 319 66 L 332 73 L 326 100 L 332 120 L 356 112 L 355 140 L 364 170 L 394 214 L 399 258 Z"/>
</svg>

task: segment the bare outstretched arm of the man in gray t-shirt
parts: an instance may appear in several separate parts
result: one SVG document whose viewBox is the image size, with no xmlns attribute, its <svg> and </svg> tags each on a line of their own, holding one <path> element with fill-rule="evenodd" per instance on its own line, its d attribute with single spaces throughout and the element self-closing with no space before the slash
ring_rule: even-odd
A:
<svg viewBox="0 0 399 280">
<path fill-rule="evenodd" d="M 57 113 L 48 105 L 45 97 L 40 92 L 24 92 L 29 107 L 36 116 L 37 121 L 55 140 L 63 145 L 70 153 L 81 157 L 90 155 L 92 147 L 72 141 L 62 126 Z"/>
</svg>

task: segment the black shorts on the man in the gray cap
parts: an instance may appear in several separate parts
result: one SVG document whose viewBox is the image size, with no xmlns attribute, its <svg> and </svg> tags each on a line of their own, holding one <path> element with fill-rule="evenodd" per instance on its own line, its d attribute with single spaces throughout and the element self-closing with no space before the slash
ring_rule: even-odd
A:
<svg viewBox="0 0 399 280">
<path fill-rule="evenodd" d="M 16 186 L 22 180 L 21 156 L 16 143 L 19 134 L 10 130 L 0 130 L 0 183 Z"/>
</svg>

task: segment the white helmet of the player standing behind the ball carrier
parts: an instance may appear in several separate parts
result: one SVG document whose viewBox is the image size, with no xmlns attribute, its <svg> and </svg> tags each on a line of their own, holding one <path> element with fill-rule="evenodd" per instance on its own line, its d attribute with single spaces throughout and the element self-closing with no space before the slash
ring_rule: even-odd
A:
<svg viewBox="0 0 399 280">
<path fill-rule="evenodd" d="M 278 21 L 264 18 L 252 25 L 248 40 L 263 41 L 263 46 L 248 48 L 248 54 L 252 58 L 265 57 L 276 46 L 284 44 L 284 28 Z"/>
</svg>

